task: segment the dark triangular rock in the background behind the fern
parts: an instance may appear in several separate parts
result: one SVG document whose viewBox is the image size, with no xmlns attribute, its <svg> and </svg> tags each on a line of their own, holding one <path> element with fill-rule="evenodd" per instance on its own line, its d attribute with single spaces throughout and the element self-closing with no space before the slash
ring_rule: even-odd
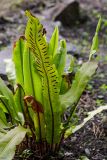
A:
<svg viewBox="0 0 107 160">
<path fill-rule="evenodd" d="M 87 16 L 82 17 L 80 15 L 79 2 L 74 0 L 72 0 L 70 3 L 60 4 L 59 9 L 55 14 L 54 20 L 61 21 L 64 26 L 68 27 L 78 23 L 84 23 L 87 20 Z"/>
</svg>

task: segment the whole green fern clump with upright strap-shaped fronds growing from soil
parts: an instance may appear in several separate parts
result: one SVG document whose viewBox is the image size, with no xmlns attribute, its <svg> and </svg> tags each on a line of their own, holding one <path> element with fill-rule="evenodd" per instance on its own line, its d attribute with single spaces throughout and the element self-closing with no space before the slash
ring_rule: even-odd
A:
<svg viewBox="0 0 107 160">
<path fill-rule="evenodd" d="M 101 19 L 89 60 L 83 63 L 70 84 L 64 71 L 66 41 L 61 40 L 58 49 L 58 28 L 55 28 L 48 43 L 39 19 L 29 11 L 26 11 L 26 15 L 28 22 L 25 36 L 21 36 L 13 48 L 14 92 L 0 79 L 0 160 L 11 160 L 16 146 L 23 141 L 38 151 L 39 155 L 56 153 L 62 140 L 90 119 L 86 119 L 81 126 L 72 125 L 82 92 L 98 66 L 92 55 L 98 48 Z M 71 68 L 72 64 L 71 61 Z M 68 108 L 69 117 L 63 121 Z M 93 116 L 97 112 L 99 111 L 94 112 Z"/>
</svg>

